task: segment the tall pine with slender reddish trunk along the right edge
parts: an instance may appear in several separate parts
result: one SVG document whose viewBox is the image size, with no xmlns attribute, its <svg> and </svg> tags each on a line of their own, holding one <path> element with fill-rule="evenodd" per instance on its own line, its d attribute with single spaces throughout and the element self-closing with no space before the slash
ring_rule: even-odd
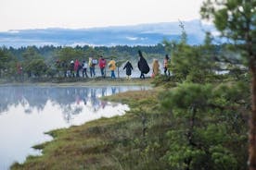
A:
<svg viewBox="0 0 256 170">
<path fill-rule="evenodd" d="M 256 1 L 206 0 L 202 18 L 210 19 L 222 35 L 241 48 L 251 74 L 249 166 L 256 170 Z"/>
</svg>

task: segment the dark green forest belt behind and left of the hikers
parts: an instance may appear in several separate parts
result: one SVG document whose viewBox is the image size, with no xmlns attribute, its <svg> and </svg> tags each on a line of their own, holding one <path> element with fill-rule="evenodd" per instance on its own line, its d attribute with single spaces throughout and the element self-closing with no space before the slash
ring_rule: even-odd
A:
<svg viewBox="0 0 256 170">
<path fill-rule="evenodd" d="M 125 60 L 135 60 L 137 51 L 143 50 L 148 58 L 164 55 L 164 46 L 159 43 L 152 46 L 96 46 L 89 45 L 63 47 L 45 45 L 43 47 L 27 46 L 18 49 L 13 47 L 0 48 L 0 78 L 18 78 L 19 69 L 27 78 L 42 76 L 55 77 L 67 69 L 71 60 L 86 60 L 90 56 L 98 58 L 103 55 L 105 58 L 116 58 L 118 63 Z M 58 65 L 57 65 L 58 61 Z M 59 65 L 61 63 L 61 65 Z M 64 75 L 64 74 L 62 74 Z"/>
</svg>

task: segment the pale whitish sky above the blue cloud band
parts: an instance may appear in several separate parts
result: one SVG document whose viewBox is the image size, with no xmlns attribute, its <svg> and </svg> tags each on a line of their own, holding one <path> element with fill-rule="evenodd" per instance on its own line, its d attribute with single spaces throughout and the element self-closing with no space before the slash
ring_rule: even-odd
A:
<svg viewBox="0 0 256 170">
<path fill-rule="evenodd" d="M 170 22 L 199 18 L 203 0 L 0 0 L 0 31 Z"/>
</svg>

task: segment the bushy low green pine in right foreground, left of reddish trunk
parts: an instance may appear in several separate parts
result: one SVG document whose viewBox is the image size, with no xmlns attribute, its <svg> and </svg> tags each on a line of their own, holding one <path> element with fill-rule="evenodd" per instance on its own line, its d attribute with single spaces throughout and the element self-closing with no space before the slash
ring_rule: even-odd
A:
<svg viewBox="0 0 256 170">
<path fill-rule="evenodd" d="M 184 83 L 165 91 L 161 104 L 173 113 L 165 155 L 171 167 L 245 169 L 247 152 L 240 151 L 247 147 L 243 114 L 248 112 L 248 94 L 243 83 L 219 87 Z"/>
</svg>

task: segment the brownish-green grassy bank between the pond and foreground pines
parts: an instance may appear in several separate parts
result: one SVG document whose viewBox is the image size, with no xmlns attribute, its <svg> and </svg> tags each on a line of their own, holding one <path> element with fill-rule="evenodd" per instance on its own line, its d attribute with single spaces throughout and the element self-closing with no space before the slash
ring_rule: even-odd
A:
<svg viewBox="0 0 256 170">
<path fill-rule="evenodd" d="M 50 131 L 54 140 L 33 147 L 43 150 L 42 156 L 29 156 L 11 169 L 166 168 L 161 157 L 167 150 L 165 132 L 170 125 L 158 103 L 159 91 L 128 91 L 104 100 L 127 103 L 131 110 L 126 115 Z"/>
</svg>

